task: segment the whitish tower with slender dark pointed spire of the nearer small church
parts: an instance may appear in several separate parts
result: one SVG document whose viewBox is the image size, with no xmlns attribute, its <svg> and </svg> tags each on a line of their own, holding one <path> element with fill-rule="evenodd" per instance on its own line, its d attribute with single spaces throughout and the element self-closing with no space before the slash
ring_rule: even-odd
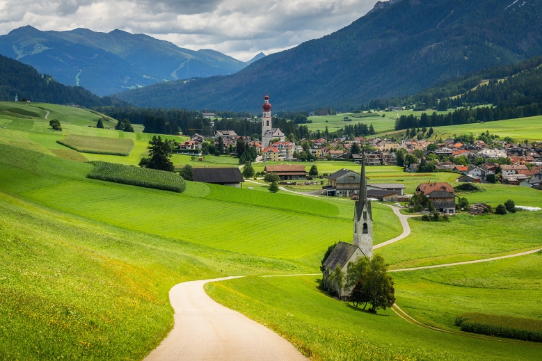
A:
<svg viewBox="0 0 542 361">
<path fill-rule="evenodd" d="M 367 257 L 373 257 L 373 215 L 371 202 L 367 200 L 367 178 L 365 177 L 365 152 L 362 153 L 360 192 L 354 210 L 353 243 Z"/>
</svg>

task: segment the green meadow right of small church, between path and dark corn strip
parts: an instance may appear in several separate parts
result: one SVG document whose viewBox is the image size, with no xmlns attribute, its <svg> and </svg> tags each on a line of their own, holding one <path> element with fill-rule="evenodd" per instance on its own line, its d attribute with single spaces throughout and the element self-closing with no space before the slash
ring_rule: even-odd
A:
<svg viewBox="0 0 542 361">
<path fill-rule="evenodd" d="M 394 272 L 397 304 L 418 321 L 459 330 L 456 317 L 484 313 L 542 322 L 542 254 Z M 533 325 L 534 326 L 534 325 Z"/>
</svg>

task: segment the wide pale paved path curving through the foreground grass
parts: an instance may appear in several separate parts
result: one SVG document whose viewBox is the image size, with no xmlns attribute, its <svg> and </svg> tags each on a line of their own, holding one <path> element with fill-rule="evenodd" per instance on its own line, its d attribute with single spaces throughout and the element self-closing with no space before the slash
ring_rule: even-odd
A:
<svg viewBox="0 0 542 361">
<path fill-rule="evenodd" d="M 246 316 L 212 300 L 203 285 L 236 277 L 175 285 L 169 293 L 175 325 L 145 361 L 307 361 L 292 344 Z"/>
</svg>

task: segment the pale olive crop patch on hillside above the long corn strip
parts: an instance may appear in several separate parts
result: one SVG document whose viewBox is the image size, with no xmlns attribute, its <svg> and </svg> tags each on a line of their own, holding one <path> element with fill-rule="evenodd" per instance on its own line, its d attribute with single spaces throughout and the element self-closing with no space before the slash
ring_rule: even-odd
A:
<svg viewBox="0 0 542 361">
<path fill-rule="evenodd" d="M 103 138 L 97 136 L 66 136 L 62 141 L 56 143 L 70 147 L 77 152 L 97 153 L 109 155 L 130 154 L 134 148 L 134 141 L 122 138 Z"/>
</svg>

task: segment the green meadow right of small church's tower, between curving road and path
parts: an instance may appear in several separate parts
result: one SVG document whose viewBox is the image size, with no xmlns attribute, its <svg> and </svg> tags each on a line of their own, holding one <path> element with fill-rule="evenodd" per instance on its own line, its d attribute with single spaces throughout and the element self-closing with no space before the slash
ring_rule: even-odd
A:
<svg viewBox="0 0 542 361">
<path fill-rule="evenodd" d="M 540 212 L 518 212 L 506 216 L 450 217 L 449 222 L 423 222 L 409 219 L 411 235 L 378 249 L 392 266 L 411 268 L 470 261 L 531 250 L 542 246 L 534 236 L 542 232 Z M 510 225 L 521 225 L 511 236 Z"/>
</svg>

